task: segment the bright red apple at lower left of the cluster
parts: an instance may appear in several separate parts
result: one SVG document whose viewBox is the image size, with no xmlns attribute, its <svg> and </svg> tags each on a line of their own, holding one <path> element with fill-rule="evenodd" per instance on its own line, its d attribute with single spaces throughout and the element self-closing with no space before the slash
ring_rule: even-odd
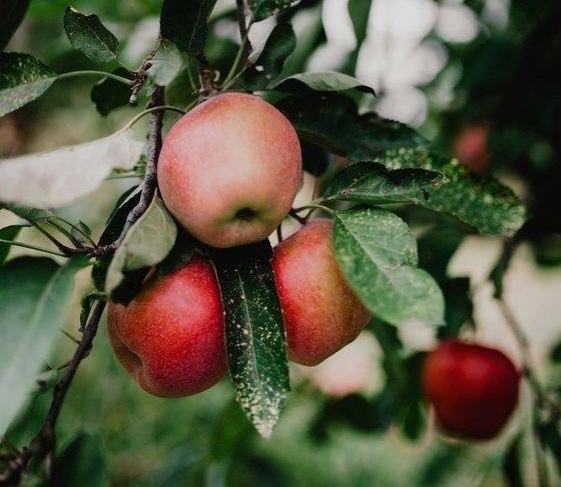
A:
<svg viewBox="0 0 561 487">
<path fill-rule="evenodd" d="M 155 396 L 197 394 L 227 372 L 220 291 L 200 256 L 149 281 L 127 306 L 109 303 L 107 329 L 117 359 Z"/>
</svg>

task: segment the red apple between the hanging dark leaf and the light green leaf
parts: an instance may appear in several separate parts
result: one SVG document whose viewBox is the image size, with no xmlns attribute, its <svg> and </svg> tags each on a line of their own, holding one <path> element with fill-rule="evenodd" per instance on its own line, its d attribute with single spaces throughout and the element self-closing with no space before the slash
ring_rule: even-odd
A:
<svg viewBox="0 0 561 487">
<path fill-rule="evenodd" d="M 317 365 L 352 342 L 370 320 L 335 259 L 333 222 L 317 219 L 273 249 L 289 360 Z"/>
</svg>

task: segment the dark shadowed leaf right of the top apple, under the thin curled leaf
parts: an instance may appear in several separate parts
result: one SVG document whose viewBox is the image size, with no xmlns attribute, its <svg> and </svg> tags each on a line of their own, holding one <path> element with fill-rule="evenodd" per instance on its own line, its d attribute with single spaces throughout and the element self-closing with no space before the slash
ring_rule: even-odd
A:
<svg viewBox="0 0 561 487">
<path fill-rule="evenodd" d="M 373 161 L 388 149 L 426 147 L 406 125 L 375 113 L 358 113 L 356 103 L 341 93 L 308 91 L 276 103 L 305 140 L 353 162 Z"/>
</svg>

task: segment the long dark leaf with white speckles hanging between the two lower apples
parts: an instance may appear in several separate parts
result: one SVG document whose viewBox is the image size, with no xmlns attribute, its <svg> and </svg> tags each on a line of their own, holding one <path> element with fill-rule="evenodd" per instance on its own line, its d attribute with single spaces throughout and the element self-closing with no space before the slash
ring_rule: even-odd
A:
<svg viewBox="0 0 561 487">
<path fill-rule="evenodd" d="M 263 437 L 271 436 L 290 389 L 270 257 L 267 241 L 213 255 L 225 304 L 226 348 L 236 400 Z"/>
</svg>

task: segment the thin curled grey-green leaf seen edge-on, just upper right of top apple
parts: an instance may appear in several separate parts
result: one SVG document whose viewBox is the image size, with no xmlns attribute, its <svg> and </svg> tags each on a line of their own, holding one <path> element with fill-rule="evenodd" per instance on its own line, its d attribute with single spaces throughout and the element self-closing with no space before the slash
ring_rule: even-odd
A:
<svg viewBox="0 0 561 487">
<path fill-rule="evenodd" d="M 315 71 L 294 74 L 283 79 L 272 87 L 279 91 L 301 92 L 309 89 L 318 92 L 341 92 L 356 90 L 361 93 L 375 95 L 374 90 L 356 78 L 337 71 Z"/>
</svg>

